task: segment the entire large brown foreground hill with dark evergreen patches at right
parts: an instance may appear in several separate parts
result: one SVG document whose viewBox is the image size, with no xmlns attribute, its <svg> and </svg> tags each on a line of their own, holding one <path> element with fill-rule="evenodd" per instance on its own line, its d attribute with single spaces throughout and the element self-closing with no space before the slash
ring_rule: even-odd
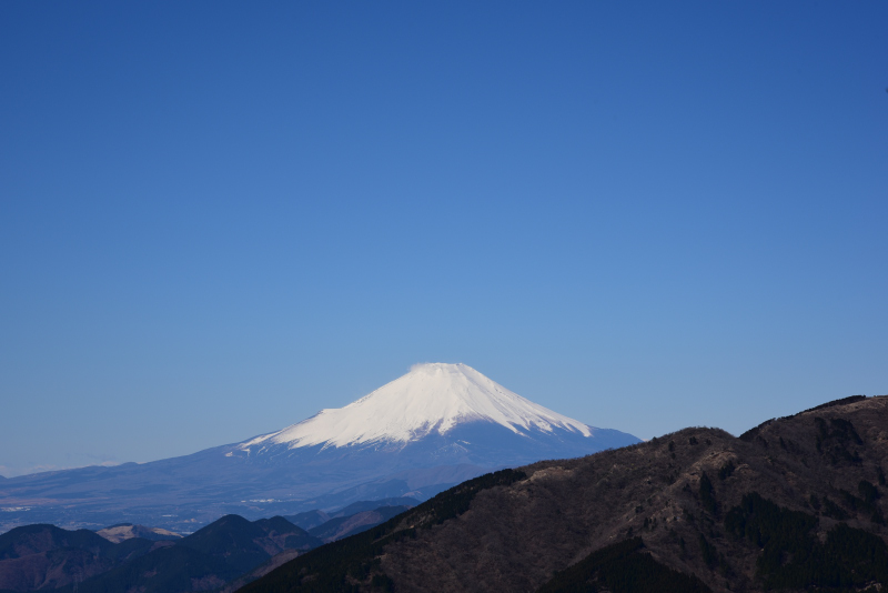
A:
<svg viewBox="0 0 888 593">
<path fill-rule="evenodd" d="M 886 466 L 888 396 L 685 429 L 471 480 L 244 591 L 885 591 Z"/>
</svg>

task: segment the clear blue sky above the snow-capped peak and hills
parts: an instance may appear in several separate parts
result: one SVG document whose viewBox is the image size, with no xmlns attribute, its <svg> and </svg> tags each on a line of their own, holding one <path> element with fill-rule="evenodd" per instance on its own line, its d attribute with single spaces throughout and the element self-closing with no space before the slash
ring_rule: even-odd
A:
<svg viewBox="0 0 888 593">
<path fill-rule="evenodd" d="M 888 4 L 3 2 L 0 473 L 465 362 L 593 425 L 888 393 Z"/>
</svg>

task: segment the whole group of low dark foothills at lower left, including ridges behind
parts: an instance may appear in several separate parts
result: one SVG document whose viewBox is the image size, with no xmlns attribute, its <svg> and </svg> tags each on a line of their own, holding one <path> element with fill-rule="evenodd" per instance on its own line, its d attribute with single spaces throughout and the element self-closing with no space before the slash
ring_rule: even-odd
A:
<svg viewBox="0 0 888 593">
<path fill-rule="evenodd" d="M 398 504 L 386 504 L 393 502 Z M 251 522 L 239 515 L 225 515 L 185 537 L 131 524 L 98 533 L 46 524 L 16 527 L 0 535 L 0 593 L 234 591 L 307 550 L 371 529 L 417 502 L 363 501 L 329 515 L 305 513 L 325 517 L 309 531 L 282 516 Z"/>
</svg>

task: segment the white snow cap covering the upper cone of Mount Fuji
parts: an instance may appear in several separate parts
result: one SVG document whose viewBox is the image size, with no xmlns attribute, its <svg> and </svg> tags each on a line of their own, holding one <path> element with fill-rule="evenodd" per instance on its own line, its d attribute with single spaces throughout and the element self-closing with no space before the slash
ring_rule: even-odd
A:
<svg viewBox="0 0 888 593">
<path fill-rule="evenodd" d="M 322 410 L 299 424 L 242 443 L 239 449 L 406 443 L 475 421 L 495 422 L 518 434 L 561 429 L 592 436 L 593 431 L 577 420 L 525 400 L 471 366 L 426 363 L 415 364 L 407 374 L 345 408 Z"/>
</svg>

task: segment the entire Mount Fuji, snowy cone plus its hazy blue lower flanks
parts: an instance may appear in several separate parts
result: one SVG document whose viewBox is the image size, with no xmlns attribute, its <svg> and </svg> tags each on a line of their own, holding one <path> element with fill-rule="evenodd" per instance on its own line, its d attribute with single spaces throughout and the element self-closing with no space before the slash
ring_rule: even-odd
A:
<svg viewBox="0 0 888 593">
<path fill-rule="evenodd" d="M 426 363 L 341 409 L 181 458 L 0 482 L 0 532 L 127 521 L 188 532 L 390 496 L 427 499 L 492 470 L 639 442 L 538 405 L 465 364 Z M 189 529 L 190 527 L 190 529 Z"/>
</svg>

